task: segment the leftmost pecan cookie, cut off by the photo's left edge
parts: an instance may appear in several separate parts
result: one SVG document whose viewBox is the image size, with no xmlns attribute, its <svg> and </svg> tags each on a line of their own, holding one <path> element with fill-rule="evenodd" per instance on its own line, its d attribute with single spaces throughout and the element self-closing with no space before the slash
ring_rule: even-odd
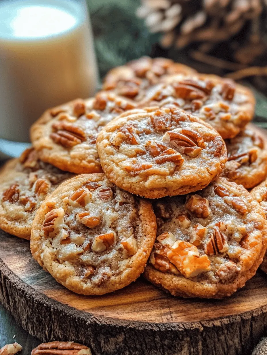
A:
<svg viewBox="0 0 267 355">
<path fill-rule="evenodd" d="M 0 173 L 0 228 L 30 239 L 35 214 L 45 197 L 73 174 L 38 160 L 33 148 L 6 163 Z"/>
</svg>

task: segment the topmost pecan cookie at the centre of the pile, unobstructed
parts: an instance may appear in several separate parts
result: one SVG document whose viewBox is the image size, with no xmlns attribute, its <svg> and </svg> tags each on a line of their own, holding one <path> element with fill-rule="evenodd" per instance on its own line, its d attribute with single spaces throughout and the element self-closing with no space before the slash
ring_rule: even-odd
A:
<svg viewBox="0 0 267 355">
<path fill-rule="evenodd" d="M 128 111 L 104 127 L 96 144 L 108 178 L 148 198 L 203 189 L 227 160 L 221 136 L 176 107 Z"/>
</svg>

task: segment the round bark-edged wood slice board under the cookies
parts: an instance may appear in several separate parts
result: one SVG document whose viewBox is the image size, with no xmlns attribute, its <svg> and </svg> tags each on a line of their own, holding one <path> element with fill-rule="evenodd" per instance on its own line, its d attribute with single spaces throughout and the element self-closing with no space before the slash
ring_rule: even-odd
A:
<svg viewBox="0 0 267 355">
<path fill-rule="evenodd" d="M 248 355 L 267 334 L 262 271 L 224 300 L 173 297 L 140 277 L 104 296 L 77 295 L 0 230 L 0 302 L 44 342 L 74 340 L 94 355 Z"/>
</svg>

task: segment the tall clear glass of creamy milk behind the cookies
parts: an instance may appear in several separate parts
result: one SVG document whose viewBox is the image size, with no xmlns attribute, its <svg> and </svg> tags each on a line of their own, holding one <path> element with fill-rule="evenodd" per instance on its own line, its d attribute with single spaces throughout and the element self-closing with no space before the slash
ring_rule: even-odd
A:
<svg viewBox="0 0 267 355">
<path fill-rule="evenodd" d="M 85 1 L 0 1 L 0 151 L 17 155 L 44 110 L 97 84 Z"/>
</svg>

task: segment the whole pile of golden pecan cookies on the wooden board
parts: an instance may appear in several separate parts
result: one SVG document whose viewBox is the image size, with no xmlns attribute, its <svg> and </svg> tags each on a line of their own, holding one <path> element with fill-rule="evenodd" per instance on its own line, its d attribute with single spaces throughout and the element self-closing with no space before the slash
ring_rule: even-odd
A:
<svg viewBox="0 0 267 355">
<path fill-rule="evenodd" d="M 94 98 L 32 126 L 33 148 L 0 173 L 0 228 L 30 239 L 35 260 L 76 293 L 144 272 L 175 296 L 230 296 L 267 247 L 254 106 L 249 89 L 168 59 L 115 68 Z"/>
</svg>

